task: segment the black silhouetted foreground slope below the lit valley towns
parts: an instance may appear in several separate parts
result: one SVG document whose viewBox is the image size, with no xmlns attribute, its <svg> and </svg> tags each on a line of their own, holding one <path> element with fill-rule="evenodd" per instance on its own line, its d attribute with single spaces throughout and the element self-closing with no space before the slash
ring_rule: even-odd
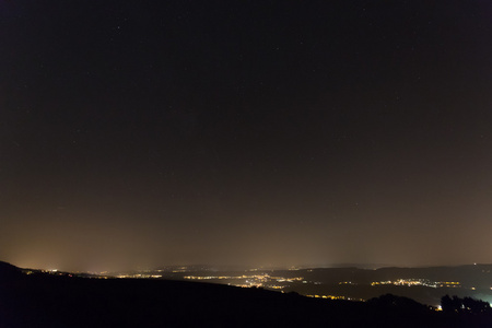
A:
<svg viewBox="0 0 492 328">
<path fill-rule="evenodd" d="M 196 282 L 26 276 L 0 262 L 0 327 L 488 327 L 411 300 L 326 301 Z"/>
</svg>

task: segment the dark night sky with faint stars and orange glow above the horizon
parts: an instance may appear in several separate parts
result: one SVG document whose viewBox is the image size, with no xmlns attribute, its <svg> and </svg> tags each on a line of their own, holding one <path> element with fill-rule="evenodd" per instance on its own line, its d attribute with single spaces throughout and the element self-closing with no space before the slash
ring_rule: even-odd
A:
<svg viewBox="0 0 492 328">
<path fill-rule="evenodd" d="M 492 262 L 492 4 L 0 0 L 0 259 Z"/>
</svg>

